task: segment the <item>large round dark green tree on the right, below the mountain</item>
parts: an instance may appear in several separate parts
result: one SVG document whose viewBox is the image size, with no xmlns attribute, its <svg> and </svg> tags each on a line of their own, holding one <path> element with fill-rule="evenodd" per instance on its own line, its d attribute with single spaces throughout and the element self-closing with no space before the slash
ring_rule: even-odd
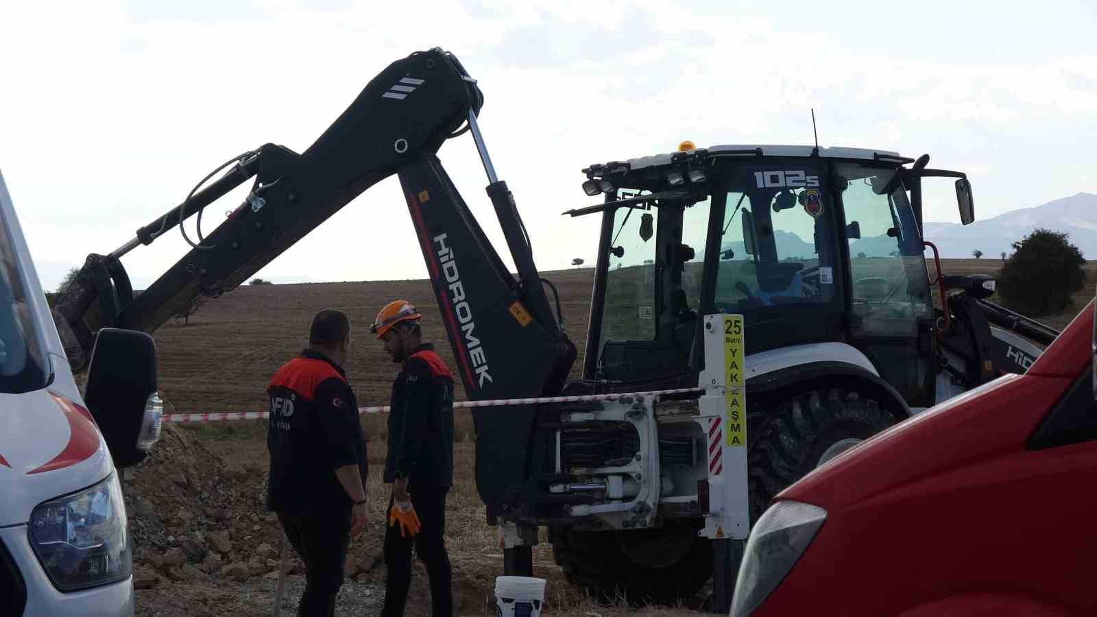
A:
<svg viewBox="0 0 1097 617">
<path fill-rule="evenodd" d="M 997 292 L 1006 306 L 1039 316 L 1073 304 L 1073 294 L 1086 282 L 1086 260 L 1067 234 L 1041 227 L 1013 247 L 998 272 Z"/>
</svg>

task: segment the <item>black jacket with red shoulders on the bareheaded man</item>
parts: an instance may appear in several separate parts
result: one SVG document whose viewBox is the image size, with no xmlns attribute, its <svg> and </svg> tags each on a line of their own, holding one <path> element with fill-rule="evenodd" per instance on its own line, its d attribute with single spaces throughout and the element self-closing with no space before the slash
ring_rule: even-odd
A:
<svg viewBox="0 0 1097 617">
<path fill-rule="evenodd" d="M 369 461 L 358 401 L 342 367 L 305 349 L 274 373 L 267 392 L 267 509 L 303 514 L 349 508 L 350 495 L 335 470 L 358 464 L 364 489 Z"/>
</svg>

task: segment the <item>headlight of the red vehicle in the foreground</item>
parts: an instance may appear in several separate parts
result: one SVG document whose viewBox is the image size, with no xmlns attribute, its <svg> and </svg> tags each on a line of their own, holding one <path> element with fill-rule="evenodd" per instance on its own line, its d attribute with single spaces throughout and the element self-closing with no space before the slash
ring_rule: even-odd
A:
<svg viewBox="0 0 1097 617">
<path fill-rule="evenodd" d="M 801 502 L 777 502 L 758 518 L 735 581 L 732 617 L 746 617 L 777 588 L 815 539 L 826 511 Z"/>
</svg>

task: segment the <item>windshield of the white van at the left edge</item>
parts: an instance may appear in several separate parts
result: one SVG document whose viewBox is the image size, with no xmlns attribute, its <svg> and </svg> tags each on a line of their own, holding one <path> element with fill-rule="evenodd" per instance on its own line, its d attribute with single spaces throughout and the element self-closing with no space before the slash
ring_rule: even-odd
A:
<svg viewBox="0 0 1097 617">
<path fill-rule="evenodd" d="M 11 242 L 10 212 L 0 211 L 0 393 L 19 394 L 48 385 L 48 372 L 19 251 Z"/>
</svg>

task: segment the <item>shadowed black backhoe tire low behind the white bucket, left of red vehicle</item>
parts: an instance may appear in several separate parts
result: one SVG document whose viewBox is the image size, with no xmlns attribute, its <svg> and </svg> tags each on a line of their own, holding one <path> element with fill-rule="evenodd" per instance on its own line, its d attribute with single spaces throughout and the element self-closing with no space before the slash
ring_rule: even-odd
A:
<svg viewBox="0 0 1097 617">
<path fill-rule="evenodd" d="M 670 521 L 669 528 L 632 531 L 552 530 L 553 557 L 568 583 L 597 602 L 675 605 L 689 602 L 712 577 L 712 546 L 699 537 L 699 521 Z M 627 545 L 629 550 L 623 547 Z M 660 551 L 658 547 L 675 550 Z M 655 547 L 652 559 L 636 549 Z M 632 553 L 632 554 L 630 554 Z"/>
</svg>

